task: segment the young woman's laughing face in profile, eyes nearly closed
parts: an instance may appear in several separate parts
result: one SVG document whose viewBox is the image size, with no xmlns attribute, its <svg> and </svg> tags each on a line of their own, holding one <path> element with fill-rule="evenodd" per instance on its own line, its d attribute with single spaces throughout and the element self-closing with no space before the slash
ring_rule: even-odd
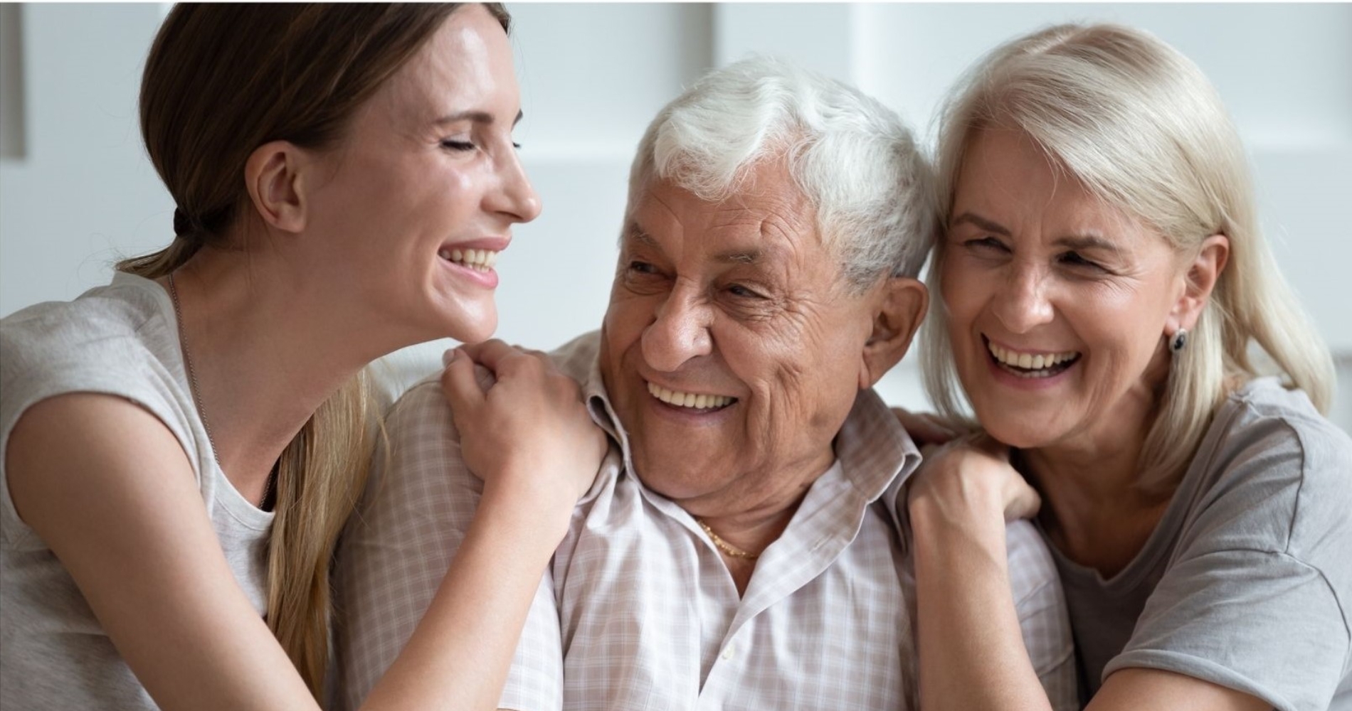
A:
<svg viewBox="0 0 1352 711">
<path fill-rule="evenodd" d="M 316 158 L 307 234 L 322 243 L 307 255 L 342 289 L 352 323 L 406 343 L 492 335 L 493 264 L 511 226 L 539 214 L 512 145 L 519 116 L 507 34 L 468 5 Z"/>
</svg>

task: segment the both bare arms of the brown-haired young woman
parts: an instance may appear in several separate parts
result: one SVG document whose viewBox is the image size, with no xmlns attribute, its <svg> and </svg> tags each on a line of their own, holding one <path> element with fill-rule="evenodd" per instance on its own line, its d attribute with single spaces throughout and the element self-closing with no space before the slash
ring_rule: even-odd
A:
<svg viewBox="0 0 1352 711">
<path fill-rule="evenodd" d="M 452 370 L 449 396 L 453 383 L 464 385 Z M 483 462 L 480 514 L 362 708 L 492 708 L 539 576 L 595 476 L 604 437 L 576 384 L 527 361 L 506 364 L 499 377 L 511 387 L 496 399 L 480 393 L 465 411 L 526 418 L 539 435 Z M 504 406 L 511 412 L 500 415 Z M 118 397 L 53 397 L 16 424 L 7 460 L 20 516 L 70 570 L 161 708 L 318 707 L 235 583 L 191 465 L 158 419 Z"/>
</svg>

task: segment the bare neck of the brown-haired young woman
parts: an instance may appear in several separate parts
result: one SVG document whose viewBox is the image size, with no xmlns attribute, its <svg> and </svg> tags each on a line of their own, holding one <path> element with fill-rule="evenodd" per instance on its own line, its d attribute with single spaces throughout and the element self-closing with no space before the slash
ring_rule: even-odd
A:
<svg viewBox="0 0 1352 711">
<path fill-rule="evenodd" d="M 273 464 L 315 410 L 383 354 L 379 331 L 346 323 L 342 304 L 296 284 L 266 255 L 214 249 L 174 273 L 180 331 L 216 460 L 251 500 L 262 497 Z"/>
</svg>

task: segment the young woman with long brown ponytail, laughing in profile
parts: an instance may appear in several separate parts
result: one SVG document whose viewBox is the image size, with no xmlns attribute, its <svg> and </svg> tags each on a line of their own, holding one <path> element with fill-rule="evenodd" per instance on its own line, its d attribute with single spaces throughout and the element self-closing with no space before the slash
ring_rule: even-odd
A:
<svg viewBox="0 0 1352 711">
<path fill-rule="evenodd" d="M 493 261 L 539 211 L 507 27 L 499 5 L 169 14 L 141 118 L 173 243 L 0 324 L 0 706 L 316 707 L 362 368 L 487 338 Z M 480 515 L 369 708 L 495 704 L 604 451 L 534 356 L 489 343 L 445 381 L 462 416 L 535 434 L 466 446 Z"/>
</svg>

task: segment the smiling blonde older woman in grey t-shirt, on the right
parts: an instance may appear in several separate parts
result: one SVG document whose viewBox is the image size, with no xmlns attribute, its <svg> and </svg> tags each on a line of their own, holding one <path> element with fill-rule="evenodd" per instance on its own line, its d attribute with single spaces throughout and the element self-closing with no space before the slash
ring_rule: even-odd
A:
<svg viewBox="0 0 1352 711">
<path fill-rule="evenodd" d="M 938 164 L 929 385 L 990 439 L 910 491 L 925 708 L 1046 707 L 1005 560 L 1038 495 L 1088 708 L 1352 706 L 1352 442 L 1207 80 L 1053 27 L 957 88 Z"/>
</svg>

